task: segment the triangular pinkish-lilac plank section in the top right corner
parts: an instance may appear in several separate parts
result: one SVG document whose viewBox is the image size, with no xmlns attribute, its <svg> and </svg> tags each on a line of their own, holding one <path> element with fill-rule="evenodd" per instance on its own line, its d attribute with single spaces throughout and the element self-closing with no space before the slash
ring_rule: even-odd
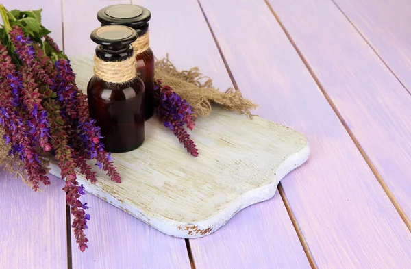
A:
<svg viewBox="0 0 411 269">
<path fill-rule="evenodd" d="M 411 2 L 334 0 L 411 92 Z"/>
</svg>

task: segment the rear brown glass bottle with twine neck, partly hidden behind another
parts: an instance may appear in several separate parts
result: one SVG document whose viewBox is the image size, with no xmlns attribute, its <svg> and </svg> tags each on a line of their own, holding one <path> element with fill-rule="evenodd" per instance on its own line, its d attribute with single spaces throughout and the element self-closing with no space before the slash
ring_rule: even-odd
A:
<svg viewBox="0 0 411 269">
<path fill-rule="evenodd" d="M 136 30 L 138 38 L 133 47 L 137 72 L 145 84 L 145 118 L 154 114 L 154 54 L 149 47 L 149 20 L 151 12 L 139 5 L 110 5 L 97 12 L 101 25 L 125 25 Z"/>
</svg>

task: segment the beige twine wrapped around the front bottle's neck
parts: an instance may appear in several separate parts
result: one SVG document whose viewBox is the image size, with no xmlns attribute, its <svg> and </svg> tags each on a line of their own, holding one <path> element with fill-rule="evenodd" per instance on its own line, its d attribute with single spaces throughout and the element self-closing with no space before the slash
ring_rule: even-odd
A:
<svg viewBox="0 0 411 269">
<path fill-rule="evenodd" d="M 120 62 L 105 62 L 95 55 L 94 62 L 94 74 L 103 81 L 124 83 L 137 76 L 136 55 L 134 53 L 131 57 Z"/>
</svg>

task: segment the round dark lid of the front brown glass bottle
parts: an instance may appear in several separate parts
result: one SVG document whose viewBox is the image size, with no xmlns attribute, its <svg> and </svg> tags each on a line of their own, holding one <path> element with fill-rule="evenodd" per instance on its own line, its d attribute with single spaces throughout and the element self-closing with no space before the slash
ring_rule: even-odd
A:
<svg viewBox="0 0 411 269">
<path fill-rule="evenodd" d="M 122 25 L 102 26 L 91 32 L 93 42 L 103 46 L 124 47 L 136 41 L 136 30 Z"/>
</svg>

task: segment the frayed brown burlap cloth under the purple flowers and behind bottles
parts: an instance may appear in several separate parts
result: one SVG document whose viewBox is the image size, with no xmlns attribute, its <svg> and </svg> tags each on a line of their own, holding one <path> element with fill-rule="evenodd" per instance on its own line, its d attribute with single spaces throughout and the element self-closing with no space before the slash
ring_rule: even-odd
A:
<svg viewBox="0 0 411 269">
<path fill-rule="evenodd" d="M 161 79 L 162 85 L 169 85 L 182 99 L 186 99 L 192 106 L 195 116 L 205 117 L 212 112 L 212 103 L 222 105 L 226 110 L 247 114 L 252 118 L 251 110 L 257 107 L 252 101 L 242 97 L 240 91 L 233 88 L 220 92 L 212 85 L 210 77 L 203 76 L 199 68 L 191 68 L 188 71 L 177 71 L 177 68 L 166 57 L 155 61 L 155 79 Z M 25 170 L 23 164 L 18 159 L 8 155 L 10 145 L 6 145 L 3 139 L 3 129 L 0 126 L 0 168 L 5 172 L 14 174 L 16 178 L 25 180 Z M 49 166 L 49 161 L 41 157 L 45 168 Z"/>
</svg>

